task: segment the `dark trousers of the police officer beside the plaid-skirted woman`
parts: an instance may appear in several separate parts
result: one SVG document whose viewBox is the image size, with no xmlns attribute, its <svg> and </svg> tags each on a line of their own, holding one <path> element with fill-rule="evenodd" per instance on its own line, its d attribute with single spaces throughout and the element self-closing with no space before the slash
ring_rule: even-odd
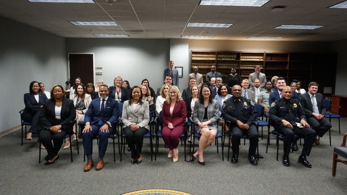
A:
<svg viewBox="0 0 347 195">
<path fill-rule="evenodd" d="M 231 130 L 232 137 L 232 153 L 238 155 L 239 154 L 239 145 L 240 139 L 243 135 L 247 135 L 249 138 L 249 149 L 248 155 L 255 155 L 255 151 L 257 150 L 257 144 L 259 142 L 259 135 L 255 125 L 251 125 L 248 130 L 240 129 L 238 126 L 235 126 Z"/>
</svg>

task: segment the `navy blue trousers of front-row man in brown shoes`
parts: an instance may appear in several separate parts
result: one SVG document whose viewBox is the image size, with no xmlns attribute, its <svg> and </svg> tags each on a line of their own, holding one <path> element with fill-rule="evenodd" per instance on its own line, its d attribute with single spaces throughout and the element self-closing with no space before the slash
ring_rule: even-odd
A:
<svg viewBox="0 0 347 195">
<path fill-rule="evenodd" d="M 108 128 L 108 133 L 99 130 L 102 125 L 93 124 L 91 125 L 91 127 L 92 131 L 82 134 L 84 154 L 93 154 L 93 138 L 99 136 L 99 156 L 104 156 L 108 145 L 108 138 L 112 135 L 112 127 Z"/>
</svg>

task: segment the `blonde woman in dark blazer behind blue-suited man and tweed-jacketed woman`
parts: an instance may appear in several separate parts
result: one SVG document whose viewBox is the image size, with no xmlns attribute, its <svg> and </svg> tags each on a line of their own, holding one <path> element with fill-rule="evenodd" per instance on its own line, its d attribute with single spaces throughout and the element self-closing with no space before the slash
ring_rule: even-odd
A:
<svg viewBox="0 0 347 195">
<path fill-rule="evenodd" d="M 116 76 L 113 80 L 113 86 L 109 87 L 109 97 L 124 103 L 129 100 L 130 92 L 128 88 L 124 87 L 123 79 L 120 76 Z"/>
</svg>

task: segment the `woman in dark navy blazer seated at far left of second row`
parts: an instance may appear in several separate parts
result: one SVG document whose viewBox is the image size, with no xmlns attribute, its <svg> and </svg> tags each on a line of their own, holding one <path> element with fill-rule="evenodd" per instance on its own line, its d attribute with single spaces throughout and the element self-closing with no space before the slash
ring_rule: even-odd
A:
<svg viewBox="0 0 347 195">
<path fill-rule="evenodd" d="M 22 119 L 31 124 L 29 133 L 26 135 L 27 140 L 32 140 L 33 133 L 39 133 L 36 124 L 39 120 L 40 109 L 47 100 L 47 96 L 44 93 L 39 93 L 39 90 L 39 83 L 33 81 L 29 85 L 30 93 L 24 94 L 25 109 L 23 111 Z"/>
</svg>

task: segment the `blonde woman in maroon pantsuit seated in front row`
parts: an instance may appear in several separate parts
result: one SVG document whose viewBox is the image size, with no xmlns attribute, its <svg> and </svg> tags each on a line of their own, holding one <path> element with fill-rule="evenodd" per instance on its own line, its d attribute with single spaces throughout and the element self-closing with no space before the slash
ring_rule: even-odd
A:
<svg viewBox="0 0 347 195">
<path fill-rule="evenodd" d="M 186 117 L 186 104 L 182 100 L 181 93 L 177 86 L 171 85 L 166 101 L 163 103 L 161 118 L 163 120 L 163 140 L 170 149 L 168 157 L 172 157 L 174 162 L 178 161 L 177 146 L 179 144 L 179 136 L 184 132 Z"/>
</svg>

